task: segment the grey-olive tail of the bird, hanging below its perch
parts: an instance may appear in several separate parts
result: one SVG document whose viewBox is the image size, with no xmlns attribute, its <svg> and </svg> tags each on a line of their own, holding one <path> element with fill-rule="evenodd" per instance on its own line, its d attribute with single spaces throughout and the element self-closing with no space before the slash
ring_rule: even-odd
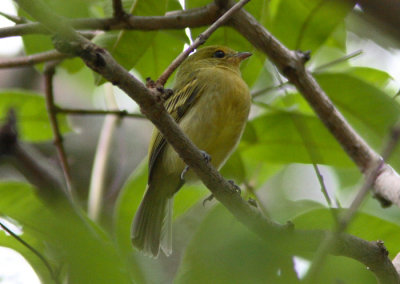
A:
<svg viewBox="0 0 400 284">
<path fill-rule="evenodd" d="M 172 252 L 173 197 L 150 187 L 133 220 L 132 243 L 146 255 L 157 257 L 161 248 L 169 256 Z"/>
</svg>

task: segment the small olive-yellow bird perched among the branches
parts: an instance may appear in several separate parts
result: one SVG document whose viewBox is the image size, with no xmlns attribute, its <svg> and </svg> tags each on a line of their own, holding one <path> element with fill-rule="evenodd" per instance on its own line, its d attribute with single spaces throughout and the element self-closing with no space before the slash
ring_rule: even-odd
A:
<svg viewBox="0 0 400 284">
<path fill-rule="evenodd" d="M 199 48 L 178 68 L 173 94 L 164 102 L 182 131 L 217 169 L 237 146 L 248 119 L 251 98 L 239 67 L 251 55 L 225 46 Z M 148 184 L 132 223 L 131 240 L 143 254 L 157 258 L 160 251 L 166 256 L 172 253 L 174 195 L 185 182 L 198 178 L 187 171 L 157 128 L 148 160 Z"/>
</svg>

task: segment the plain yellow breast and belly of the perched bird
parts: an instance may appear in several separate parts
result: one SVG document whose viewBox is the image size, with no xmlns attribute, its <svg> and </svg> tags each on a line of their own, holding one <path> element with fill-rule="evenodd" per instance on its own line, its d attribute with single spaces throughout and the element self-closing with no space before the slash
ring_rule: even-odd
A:
<svg viewBox="0 0 400 284">
<path fill-rule="evenodd" d="M 227 70 L 212 70 L 201 78 L 209 82 L 198 101 L 181 120 L 180 126 L 201 150 L 211 155 L 219 168 L 237 145 L 250 109 L 246 83 Z"/>
</svg>

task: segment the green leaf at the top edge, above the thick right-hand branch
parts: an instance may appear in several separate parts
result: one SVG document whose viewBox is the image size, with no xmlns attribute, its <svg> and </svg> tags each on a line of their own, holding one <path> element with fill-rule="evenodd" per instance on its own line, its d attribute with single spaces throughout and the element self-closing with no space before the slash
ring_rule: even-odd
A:
<svg viewBox="0 0 400 284">
<path fill-rule="evenodd" d="M 271 31 L 288 48 L 314 53 L 351 10 L 339 1 L 281 0 Z"/>
</svg>

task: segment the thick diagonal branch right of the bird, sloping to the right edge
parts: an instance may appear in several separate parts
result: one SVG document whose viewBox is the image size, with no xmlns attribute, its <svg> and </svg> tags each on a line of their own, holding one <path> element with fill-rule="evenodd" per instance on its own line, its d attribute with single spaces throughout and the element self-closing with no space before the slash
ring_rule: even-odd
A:
<svg viewBox="0 0 400 284">
<path fill-rule="evenodd" d="M 282 74 L 297 87 L 362 173 L 367 175 L 381 161 L 382 158 L 352 129 L 312 74 L 305 69 L 304 54 L 287 49 L 243 10 L 236 13 L 229 24 L 267 54 Z M 374 181 L 374 192 L 386 203 L 395 203 L 400 207 L 400 176 L 388 164 L 383 165 Z"/>
</svg>

